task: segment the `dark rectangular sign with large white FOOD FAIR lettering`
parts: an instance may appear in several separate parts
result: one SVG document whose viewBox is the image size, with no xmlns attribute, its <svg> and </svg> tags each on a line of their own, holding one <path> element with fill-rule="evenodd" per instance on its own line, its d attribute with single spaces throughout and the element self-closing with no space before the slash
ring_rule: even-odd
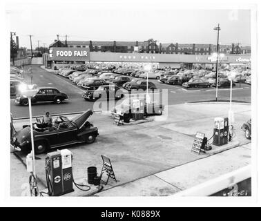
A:
<svg viewBox="0 0 261 221">
<path fill-rule="evenodd" d="M 50 48 L 50 59 L 55 61 L 90 61 L 88 48 Z"/>
</svg>

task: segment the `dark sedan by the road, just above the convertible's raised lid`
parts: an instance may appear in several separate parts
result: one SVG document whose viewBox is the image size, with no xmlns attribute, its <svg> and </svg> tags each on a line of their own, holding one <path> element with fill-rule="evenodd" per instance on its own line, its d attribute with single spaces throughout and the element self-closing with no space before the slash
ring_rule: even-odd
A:
<svg viewBox="0 0 261 221">
<path fill-rule="evenodd" d="M 112 96 L 114 99 L 121 99 L 124 97 L 124 92 L 118 86 L 104 85 L 99 86 L 96 90 L 86 90 L 86 93 L 82 97 L 86 101 L 95 102 L 97 99 L 110 99 Z"/>
</svg>

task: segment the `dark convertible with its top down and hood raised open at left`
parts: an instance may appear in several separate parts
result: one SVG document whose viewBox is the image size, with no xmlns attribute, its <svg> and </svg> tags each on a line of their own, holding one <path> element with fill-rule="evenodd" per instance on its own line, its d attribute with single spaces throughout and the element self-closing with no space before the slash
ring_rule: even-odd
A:
<svg viewBox="0 0 261 221">
<path fill-rule="evenodd" d="M 69 120 L 67 117 L 59 116 L 52 125 L 41 122 L 32 124 L 34 133 L 35 153 L 41 154 L 49 148 L 57 148 L 70 144 L 95 142 L 99 135 L 98 128 L 88 122 L 88 117 L 93 111 L 86 111 L 81 115 Z M 11 144 L 19 147 L 21 151 L 31 150 L 30 126 L 26 126 L 12 136 Z"/>
</svg>

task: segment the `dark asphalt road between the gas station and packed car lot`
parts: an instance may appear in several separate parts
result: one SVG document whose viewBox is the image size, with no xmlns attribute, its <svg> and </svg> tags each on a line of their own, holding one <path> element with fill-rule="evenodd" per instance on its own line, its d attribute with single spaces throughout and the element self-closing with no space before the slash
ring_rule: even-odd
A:
<svg viewBox="0 0 261 221">
<path fill-rule="evenodd" d="M 30 73 L 28 73 L 28 68 L 29 66 L 25 66 L 23 76 L 26 81 L 30 83 L 31 78 Z M 33 104 L 32 115 L 43 115 L 46 111 L 49 111 L 51 114 L 72 113 L 93 108 L 93 102 L 87 102 L 81 97 L 86 89 L 75 86 L 68 78 L 49 73 L 39 66 L 32 66 L 32 76 L 32 82 L 37 84 L 37 86 L 55 87 L 70 97 L 68 102 L 59 105 L 53 103 Z M 168 105 L 183 104 L 185 102 L 211 101 L 215 99 L 215 88 L 191 88 L 186 90 L 182 86 L 161 84 L 159 81 L 151 79 L 150 81 L 153 81 L 157 88 L 168 90 Z M 229 96 L 229 88 L 218 90 L 218 98 L 220 100 L 229 100 Z M 251 86 L 247 84 L 235 86 L 235 88 L 233 88 L 233 100 L 251 102 Z M 14 104 L 14 99 L 10 99 L 10 109 L 14 118 L 29 116 L 28 107 Z"/>
</svg>

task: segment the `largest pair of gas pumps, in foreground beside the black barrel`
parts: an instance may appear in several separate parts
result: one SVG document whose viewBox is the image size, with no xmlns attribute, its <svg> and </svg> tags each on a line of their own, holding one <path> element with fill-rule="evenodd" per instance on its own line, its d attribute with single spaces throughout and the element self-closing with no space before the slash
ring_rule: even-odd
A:
<svg viewBox="0 0 261 221">
<path fill-rule="evenodd" d="M 46 182 L 51 196 L 64 195 L 72 189 L 72 153 L 67 149 L 48 153 Z"/>
</svg>

